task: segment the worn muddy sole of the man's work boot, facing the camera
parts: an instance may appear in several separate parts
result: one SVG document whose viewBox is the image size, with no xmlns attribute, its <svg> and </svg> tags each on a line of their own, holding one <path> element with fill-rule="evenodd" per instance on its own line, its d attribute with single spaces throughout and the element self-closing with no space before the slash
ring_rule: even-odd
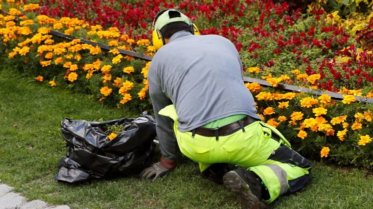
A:
<svg viewBox="0 0 373 209">
<path fill-rule="evenodd" d="M 247 183 L 234 171 L 230 171 L 223 176 L 224 186 L 241 198 L 241 206 L 244 209 L 266 209 L 267 207 L 251 193 Z"/>
</svg>

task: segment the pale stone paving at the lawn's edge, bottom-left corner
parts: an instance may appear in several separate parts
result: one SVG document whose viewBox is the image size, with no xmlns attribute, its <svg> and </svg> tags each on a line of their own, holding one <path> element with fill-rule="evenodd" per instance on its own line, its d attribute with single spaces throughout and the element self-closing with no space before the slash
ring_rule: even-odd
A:
<svg viewBox="0 0 373 209">
<path fill-rule="evenodd" d="M 41 200 L 27 202 L 26 198 L 12 190 L 12 187 L 0 184 L 0 209 L 70 209 L 68 206 L 48 206 Z"/>
</svg>

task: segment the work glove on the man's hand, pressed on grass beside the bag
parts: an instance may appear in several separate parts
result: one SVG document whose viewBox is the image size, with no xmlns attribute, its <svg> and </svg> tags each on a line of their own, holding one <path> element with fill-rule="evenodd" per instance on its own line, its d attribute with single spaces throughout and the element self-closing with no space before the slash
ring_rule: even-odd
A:
<svg viewBox="0 0 373 209">
<path fill-rule="evenodd" d="M 150 179 L 153 182 L 158 178 L 171 172 L 176 167 L 176 160 L 168 160 L 160 157 L 160 161 L 145 168 L 140 173 L 142 179 Z"/>
</svg>

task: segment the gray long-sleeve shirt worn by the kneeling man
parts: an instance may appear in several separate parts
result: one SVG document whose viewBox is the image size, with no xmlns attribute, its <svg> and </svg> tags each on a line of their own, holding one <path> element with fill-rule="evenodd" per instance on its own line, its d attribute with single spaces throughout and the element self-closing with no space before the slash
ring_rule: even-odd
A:
<svg viewBox="0 0 373 209">
<path fill-rule="evenodd" d="M 176 158 L 177 150 L 173 121 L 158 114 L 167 105 L 174 105 L 181 132 L 231 115 L 260 120 L 239 54 L 222 36 L 174 33 L 155 53 L 147 79 L 162 156 Z"/>
</svg>

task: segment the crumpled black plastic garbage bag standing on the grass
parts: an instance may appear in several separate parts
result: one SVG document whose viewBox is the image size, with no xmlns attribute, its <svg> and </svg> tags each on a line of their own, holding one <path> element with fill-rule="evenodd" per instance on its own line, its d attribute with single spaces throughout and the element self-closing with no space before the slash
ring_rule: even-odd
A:
<svg viewBox="0 0 373 209">
<path fill-rule="evenodd" d="M 105 132 L 112 125 L 122 125 L 124 131 L 108 140 Z M 150 164 L 155 148 L 155 120 L 146 112 L 104 122 L 66 118 L 61 131 L 67 155 L 58 161 L 54 178 L 63 182 L 133 175 Z"/>
</svg>

